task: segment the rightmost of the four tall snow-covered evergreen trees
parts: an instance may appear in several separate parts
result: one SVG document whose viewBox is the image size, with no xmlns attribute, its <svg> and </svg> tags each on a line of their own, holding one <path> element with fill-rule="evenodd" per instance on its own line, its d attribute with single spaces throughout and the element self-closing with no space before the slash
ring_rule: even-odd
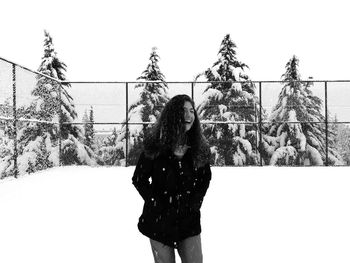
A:
<svg viewBox="0 0 350 263">
<path fill-rule="evenodd" d="M 269 131 L 264 135 L 264 149 L 273 165 L 323 165 L 326 159 L 325 117 L 322 100 L 314 96 L 312 81 L 301 81 L 296 56 L 286 64 L 284 86 L 274 107 Z M 329 129 L 330 164 L 340 163 Z"/>
</svg>

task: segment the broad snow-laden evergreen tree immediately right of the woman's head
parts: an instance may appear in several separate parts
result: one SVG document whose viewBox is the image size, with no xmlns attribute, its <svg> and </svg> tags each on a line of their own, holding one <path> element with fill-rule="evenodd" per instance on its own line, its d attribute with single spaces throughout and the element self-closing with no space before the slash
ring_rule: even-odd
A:
<svg viewBox="0 0 350 263">
<path fill-rule="evenodd" d="M 259 115 L 255 86 L 245 74 L 248 66 L 237 60 L 236 45 L 226 35 L 218 52 L 218 60 L 211 68 L 199 74 L 211 83 L 203 92 L 204 100 L 198 114 L 206 124 L 203 132 L 212 145 L 216 165 L 253 165 L 259 163 L 256 122 Z"/>
</svg>

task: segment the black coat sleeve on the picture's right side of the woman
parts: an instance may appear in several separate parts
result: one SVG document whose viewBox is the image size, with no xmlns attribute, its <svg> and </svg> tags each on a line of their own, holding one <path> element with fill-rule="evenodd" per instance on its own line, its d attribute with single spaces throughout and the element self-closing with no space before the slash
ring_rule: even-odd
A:
<svg viewBox="0 0 350 263">
<path fill-rule="evenodd" d="M 211 180 L 210 164 L 207 163 L 197 170 L 197 179 L 194 185 L 194 191 L 190 196 L 189 208 L 198 210 L 201 208 L 204 196 Z"/>
</svg>

